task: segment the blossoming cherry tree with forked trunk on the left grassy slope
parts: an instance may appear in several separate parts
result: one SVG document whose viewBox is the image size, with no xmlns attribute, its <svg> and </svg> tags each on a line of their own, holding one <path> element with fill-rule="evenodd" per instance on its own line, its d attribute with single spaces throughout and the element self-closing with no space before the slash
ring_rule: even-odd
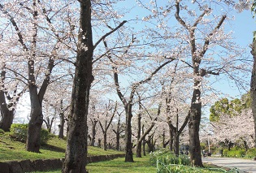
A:
<svg viewBox="0 0 256 173">
<path fill-rule="evenodd" d="M 11 61 L 5 63 L 5 69 L 21 78 L 21 81 L 27 85 L 30 95 L 31 114 L 26 149 L 33 152 L 39 152 L 40 149 L 43 97 L 53 68 L 57 64 L 55 60 L 59 59 L 59 55 L 62 56 L 62 51 L 65 50 L 62 50 L 64 47 L 60 44 L 65 39 L 64 37 L 59 36 L 57 31 L 45 32 L 47 30 L 45 28 L 52 27 L 52 22 L 56 21 L 54 17 L 57 18 L 63 11 L 56 10 L 53 6 L 50 11 L 47 11 L 45 5 L 43 2 L 34 0 L 23 3 L 3 1 L 0 6 L 2 17 L 6 22 L 2 30 L 3 35 L 15 42 L 10 45 L 12 49 L 5 51 L 5 56 L 11 57 Z M 66 4 L 62 3 L 60 6 L 66 6 Z M 54 10 L 56 13 L 50 18 Z M 12 29 L 14 32 L 9 32 Z M 53 29 L 54 27 L 48 31 Z M 20 69 L 14 66 L 15 63 L 19 64 Z M 25 67 L 28 68 L 27 73 L 24 73 Z"/>
</svg>

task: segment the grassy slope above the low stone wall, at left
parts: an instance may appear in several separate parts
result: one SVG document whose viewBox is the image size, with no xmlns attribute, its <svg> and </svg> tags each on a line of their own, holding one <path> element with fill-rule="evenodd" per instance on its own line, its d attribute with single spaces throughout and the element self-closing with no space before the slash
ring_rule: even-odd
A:
<svg viewBox="0 0 256 173">
<path fill-rule="evenodd" d="M 10 138 L 9 133 L 0 134 L 0 162 L 19 161 L 25 159 L 47 159 L 47 158 L 64 158 L 66 149 L 66 141 L 58 138 L 51 138 L 48 145 L 41 146 L 41 153 L 36 154 L 28 152 L 25 144 L 14 141 Z M 98 147 L 90 147 L 88 155 L 106 155 L 106 154 L 124 154 L 115 150 L 104 151 Z"/>
</svg>

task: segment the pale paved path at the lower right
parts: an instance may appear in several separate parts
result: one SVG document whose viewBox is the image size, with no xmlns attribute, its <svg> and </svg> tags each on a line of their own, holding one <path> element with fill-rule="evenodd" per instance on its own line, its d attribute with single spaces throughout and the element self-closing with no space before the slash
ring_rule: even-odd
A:
<svg viewBox="0 0 256 173">
<path fill-rule="evenodd" d="M 256 173 L 256 161 L 240 158 L 202 158 L 202 162 L 212 162 L 220 167 L 236 167 L 241 172 Z"/>
</svg>

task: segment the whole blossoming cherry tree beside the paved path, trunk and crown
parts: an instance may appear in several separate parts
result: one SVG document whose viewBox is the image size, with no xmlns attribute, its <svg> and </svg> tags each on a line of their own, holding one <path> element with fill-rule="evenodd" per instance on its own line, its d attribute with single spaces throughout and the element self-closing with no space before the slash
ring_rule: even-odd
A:
<svg viewBox="0 0 256 173">
<path fill-rule="evenodd" d="M 242 74 L 248 72 L 248 64 L 238 58 L 241 57 L 242 50 L 232 42 L 232 32 L 225 32 L 224 24 L 225 21 L 231 19 L 227 11 L 231 11 L 232 7 L 242 9 L 247 4 L 228 1 L 185 2 L 180 0 L 168 3 L 157 1 L 150 1 L 148 4 L 141 1 L 138 3 L 150 11 L 150 14 L 144 16 L 143 19 L 149 21 L 149 25 L 154 24 L 155 29 L 149 29 L 153 31 L 152 37 L 159 38 L 158 41 L 162 38 L 164 41 L 163 49 L 158 52 L 165 54 L 167 58 L 175 54 L 177 59 L 191 67 L 189 73 L 192 75 L 190 79 L 193 81 L 193 94 L 189 109 L 189 153 L 191 162 L 202 167 L 199 140 L 202 102 L 205 102 L 202 89 L 207 88 L 204 86 L 210 75 L 227 76 L 242 87 L 246 84 Z M 216 6 L 222 6 L 219 8 L 225 6 L 227 11 L 219 11 Z M 234 69 L 239 69 L 240 74 L 238 75 L 238 71 Z"/>
</svg>

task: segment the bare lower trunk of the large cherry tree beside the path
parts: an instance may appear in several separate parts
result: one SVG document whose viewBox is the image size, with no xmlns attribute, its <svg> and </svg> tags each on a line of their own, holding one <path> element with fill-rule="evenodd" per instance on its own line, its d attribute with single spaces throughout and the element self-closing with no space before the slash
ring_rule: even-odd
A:
<svg viewBox="0 0 256 173">
<path fill-rule="evenodd" d="M 199 140 L 199 125 L 202 115 L 200 97 L 200 90 L 194 89 L 189 113 L 189 154 L 191 162 L 197 167 L 203 167 Z"/>
</svg>

